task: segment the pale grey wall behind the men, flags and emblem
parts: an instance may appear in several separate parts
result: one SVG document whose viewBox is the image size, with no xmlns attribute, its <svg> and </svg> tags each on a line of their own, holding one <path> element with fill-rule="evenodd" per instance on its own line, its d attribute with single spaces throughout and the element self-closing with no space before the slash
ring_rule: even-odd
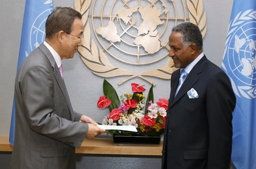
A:
<svg viewBox="0 0 256 169">
<path fill-rule="evenodd" d="M 54 0 L 55 6 L 73 6 L 73 0 Z M 203 6 L 207 12 L 207 33 L 204 38 L 204 53 L 207 58 L 216 65 L 222 63 L 225 36 L 231 15 L 232 0 L 204 0 Z M 19 43 L 25 0 L 3 0 L 0 6 L 0 135 L 8 135 L 10 130 L 10 117 L 12 112 L 12 100 L 14 96 L 14 79 L 18 63 Z M 96 102 L 103 95 L 103 78 L 93 74 L 81 61 L 78 55 L 71 60 L 64 60 L 64 80 L 73 109 L 89 115 L 101 122 L 107 111 L 97 109 Z M 169 80 L 151 78 L 157 85 L 154 87 L 155 100 L 160 97 L 169 97 Z M 139 78 L 134 78 L 118 86 L 123 77 L 108 78 L 118 95 L 129 93 L 131 82 L 150 84 Z M 147 93 L 147 92 L 146 92 Z M 146 94 L 145 93 L 145 94 Z"/>
</svg>

